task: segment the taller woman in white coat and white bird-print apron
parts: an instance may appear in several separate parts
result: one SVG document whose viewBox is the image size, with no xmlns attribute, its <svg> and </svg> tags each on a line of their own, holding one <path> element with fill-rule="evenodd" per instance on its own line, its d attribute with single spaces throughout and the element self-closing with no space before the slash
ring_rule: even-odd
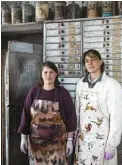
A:
<svg viewBox="0 0 122 165">
<path fill-rule="evenodd" d="M 77 137 L 74 165 L 117 165 L 122 132 L 122 89 L 104 72 L 96 50 L 83 55 L 86 76 L 76 87 Z"/>
</svg>

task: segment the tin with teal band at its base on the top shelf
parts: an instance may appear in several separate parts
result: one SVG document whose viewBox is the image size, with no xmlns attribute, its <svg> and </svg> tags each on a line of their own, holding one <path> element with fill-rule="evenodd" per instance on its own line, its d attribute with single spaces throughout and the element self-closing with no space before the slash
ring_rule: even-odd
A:
<svg viewBox="0 0 122 165">
<path fill-rule="evenodd" d="M 113 2 L 112 1 L 103 1 L 102 2 L 102 16 L 110 17 L 113 15 Z"/>
</svg>

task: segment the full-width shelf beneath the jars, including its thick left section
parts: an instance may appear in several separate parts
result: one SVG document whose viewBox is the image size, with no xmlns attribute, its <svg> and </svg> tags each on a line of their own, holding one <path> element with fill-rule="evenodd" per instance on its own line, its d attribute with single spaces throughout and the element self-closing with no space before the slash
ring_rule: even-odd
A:
<svg viewBox="0 0 122 165">
<path fill-rule="evenodd" d="M 76 21 L 93 21 L 93 20 L 106 20 L 106 19 L 122 19 L 122 16 L 112 17 L 96 17 L 96 18 L 78 18 L 78 19 L 64 19 L 64 20 L 46 20 L 42 22 L 28 22 L 20 24 L 6 24 L 1 25 L 2 35 L 17 35 L 17 34 L 33 34 L 43 33 L 43 23 L 58 23 L 58 22 L 76 22 Z M 121 20 L 122 21 L 122 20 Z"/>
</svg>

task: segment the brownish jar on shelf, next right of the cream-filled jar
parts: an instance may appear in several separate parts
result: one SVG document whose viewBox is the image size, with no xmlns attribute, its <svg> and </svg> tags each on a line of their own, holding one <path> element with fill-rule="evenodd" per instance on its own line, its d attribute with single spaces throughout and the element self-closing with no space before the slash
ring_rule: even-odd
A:
<svg viewBox="0 0 122 165">
<path fill-rule="evenodd" d="M 65 1 L 57 1 L 55 2 L 55 19 L 64 19 L 65 18 Z"/>
</svg>

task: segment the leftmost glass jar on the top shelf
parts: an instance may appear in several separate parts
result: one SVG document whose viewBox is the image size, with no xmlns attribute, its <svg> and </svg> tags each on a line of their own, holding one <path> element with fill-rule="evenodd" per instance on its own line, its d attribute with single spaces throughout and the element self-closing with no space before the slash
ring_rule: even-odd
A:
<svg viewBox="0 0 122 165">
<path fill-rule="evenodd" d="M 8 5 L 2 6 L 2 24 L 10 24 L 11 23 L 11 10 Z"/>
</svg>

